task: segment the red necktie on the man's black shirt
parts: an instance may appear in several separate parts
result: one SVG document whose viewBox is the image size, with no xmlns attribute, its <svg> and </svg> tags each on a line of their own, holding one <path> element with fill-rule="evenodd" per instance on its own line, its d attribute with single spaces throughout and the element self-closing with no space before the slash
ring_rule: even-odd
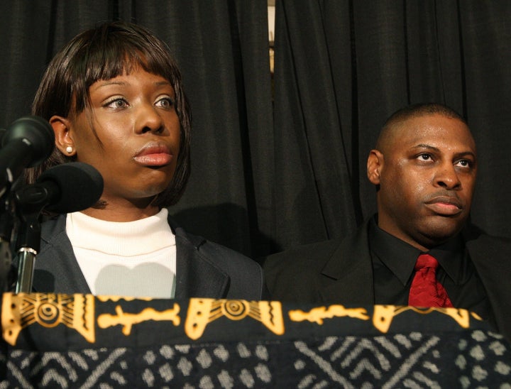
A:
<svg viewBox="0 0 511 389">
<path fill-rule="evenodd" d="M 453 306 L 444 287 L 436 281 L 438 265 L 438 261 L 428 254 L 422 254 L 417 258 L 408 305 L 414 307 Z"/>
</svg>

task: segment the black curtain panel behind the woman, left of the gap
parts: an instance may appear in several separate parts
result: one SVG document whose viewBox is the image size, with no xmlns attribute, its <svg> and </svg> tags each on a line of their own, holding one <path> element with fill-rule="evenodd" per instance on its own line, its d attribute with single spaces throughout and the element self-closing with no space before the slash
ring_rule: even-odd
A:
<svg viewBox="0 0 511 389">
<path fill-rule="evenodd" d="M 247 255 L 275 250 L 266 1 L 8 0 L 0 11 L 3 126 L 30 113 L 45 66 L 80 31 L 120 18 L 165 40 L 193 113 L 192 176 L 170 212 Z"/>
</svg>

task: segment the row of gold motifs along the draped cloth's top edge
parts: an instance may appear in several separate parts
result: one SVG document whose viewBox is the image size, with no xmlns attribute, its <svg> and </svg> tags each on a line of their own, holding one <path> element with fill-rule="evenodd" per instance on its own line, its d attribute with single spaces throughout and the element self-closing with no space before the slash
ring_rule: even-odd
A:
<svg viewBox="0 0 511 389">
<path fill-rule="evenodd" d="M 137 305 L 140 312 L 125 312 L 123 305 L 133 307 L 129 304 L 131 297 L 97 296 L 93 295 L 57 295 L 33 293 L 18 295 L 12 293 L 3 294 L 1 306 L 2 335 L 5 341 L 12 346 L 20 332 L 32 324 L 41 327 L 53 328 L 63 324 L 75 329 L 84 339 L 94 343 L 96 331 L 121 325 L 122 333 L 129 336 L 133 326 L 148 321 L 172 322 L 179 326 L 181 307 L 177 302 L 173 303 L 170 309 L 157 310 L 153 307 Z M 150 300 L 148 301 L 150 304 Z M 115 313 L 101 312 L 96 317 L 95 311 L 101 302 L 118 302 L 115 306 Z M 107 305 L 109 307 L 109 305 Z M 375 305 L 373 307 L 372 323 L 378 331 L 387 333 L 394 318 L 412 310 L 418 314 L 429 314 L 439 312 L 451 317 L 463 328 L 470 327 L 471 318 L 481 320 L 473 312 L 466 309 L 456 308 L 417 308 L 395 305 Z M 111 308 L 109 308 L 111 309 Z M 101 311 L 101 309 L 99 309 Z M 322 325 L 325 319 L 334 317 L 349 317 L 368 321 L 371 319 L 366 308 L 346 308 L 343 305 L 329 305 L 312 307 L 309 311 L 301 309 L 289 310 L 291 322 L 309 321 Z M 197 340 L 207 325 L 220 317 L 231 321 L 239 321 L 251 317 L 262 323 L 267 329 L 277 335 L 285 333 L 282 304 L 278 301 L 247 301 L 247 300 L 215 300 L 210 298 L 191 298 L 188 300 L 184 332 L 190 338 Z"/>
</svg>

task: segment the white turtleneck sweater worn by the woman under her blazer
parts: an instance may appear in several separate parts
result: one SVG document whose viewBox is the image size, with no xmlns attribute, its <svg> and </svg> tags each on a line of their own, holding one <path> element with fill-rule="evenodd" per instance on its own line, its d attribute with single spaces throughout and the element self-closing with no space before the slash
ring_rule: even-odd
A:
<svg viewBox="0 0 511 389">
<path fill-rule="evenodd" d="M 67 214 L 66 232 L 93 295 L 175 296 L 175 236 L 167 209 L 114 222 Z"/>
</svg>

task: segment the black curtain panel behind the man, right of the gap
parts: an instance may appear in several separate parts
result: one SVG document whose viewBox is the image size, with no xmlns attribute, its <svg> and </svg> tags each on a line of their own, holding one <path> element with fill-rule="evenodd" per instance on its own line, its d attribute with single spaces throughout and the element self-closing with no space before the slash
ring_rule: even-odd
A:
<svg viewBox="0 0 511 389">
<path fill-rule="evenodd" d="M 344 236 L 375 212 L 366 158 L 417 102 L 466 116 L 479 152 L 472 219 L 511 236 L 511 1 L 278 0 L 275 236 Z"/>
</svg>

